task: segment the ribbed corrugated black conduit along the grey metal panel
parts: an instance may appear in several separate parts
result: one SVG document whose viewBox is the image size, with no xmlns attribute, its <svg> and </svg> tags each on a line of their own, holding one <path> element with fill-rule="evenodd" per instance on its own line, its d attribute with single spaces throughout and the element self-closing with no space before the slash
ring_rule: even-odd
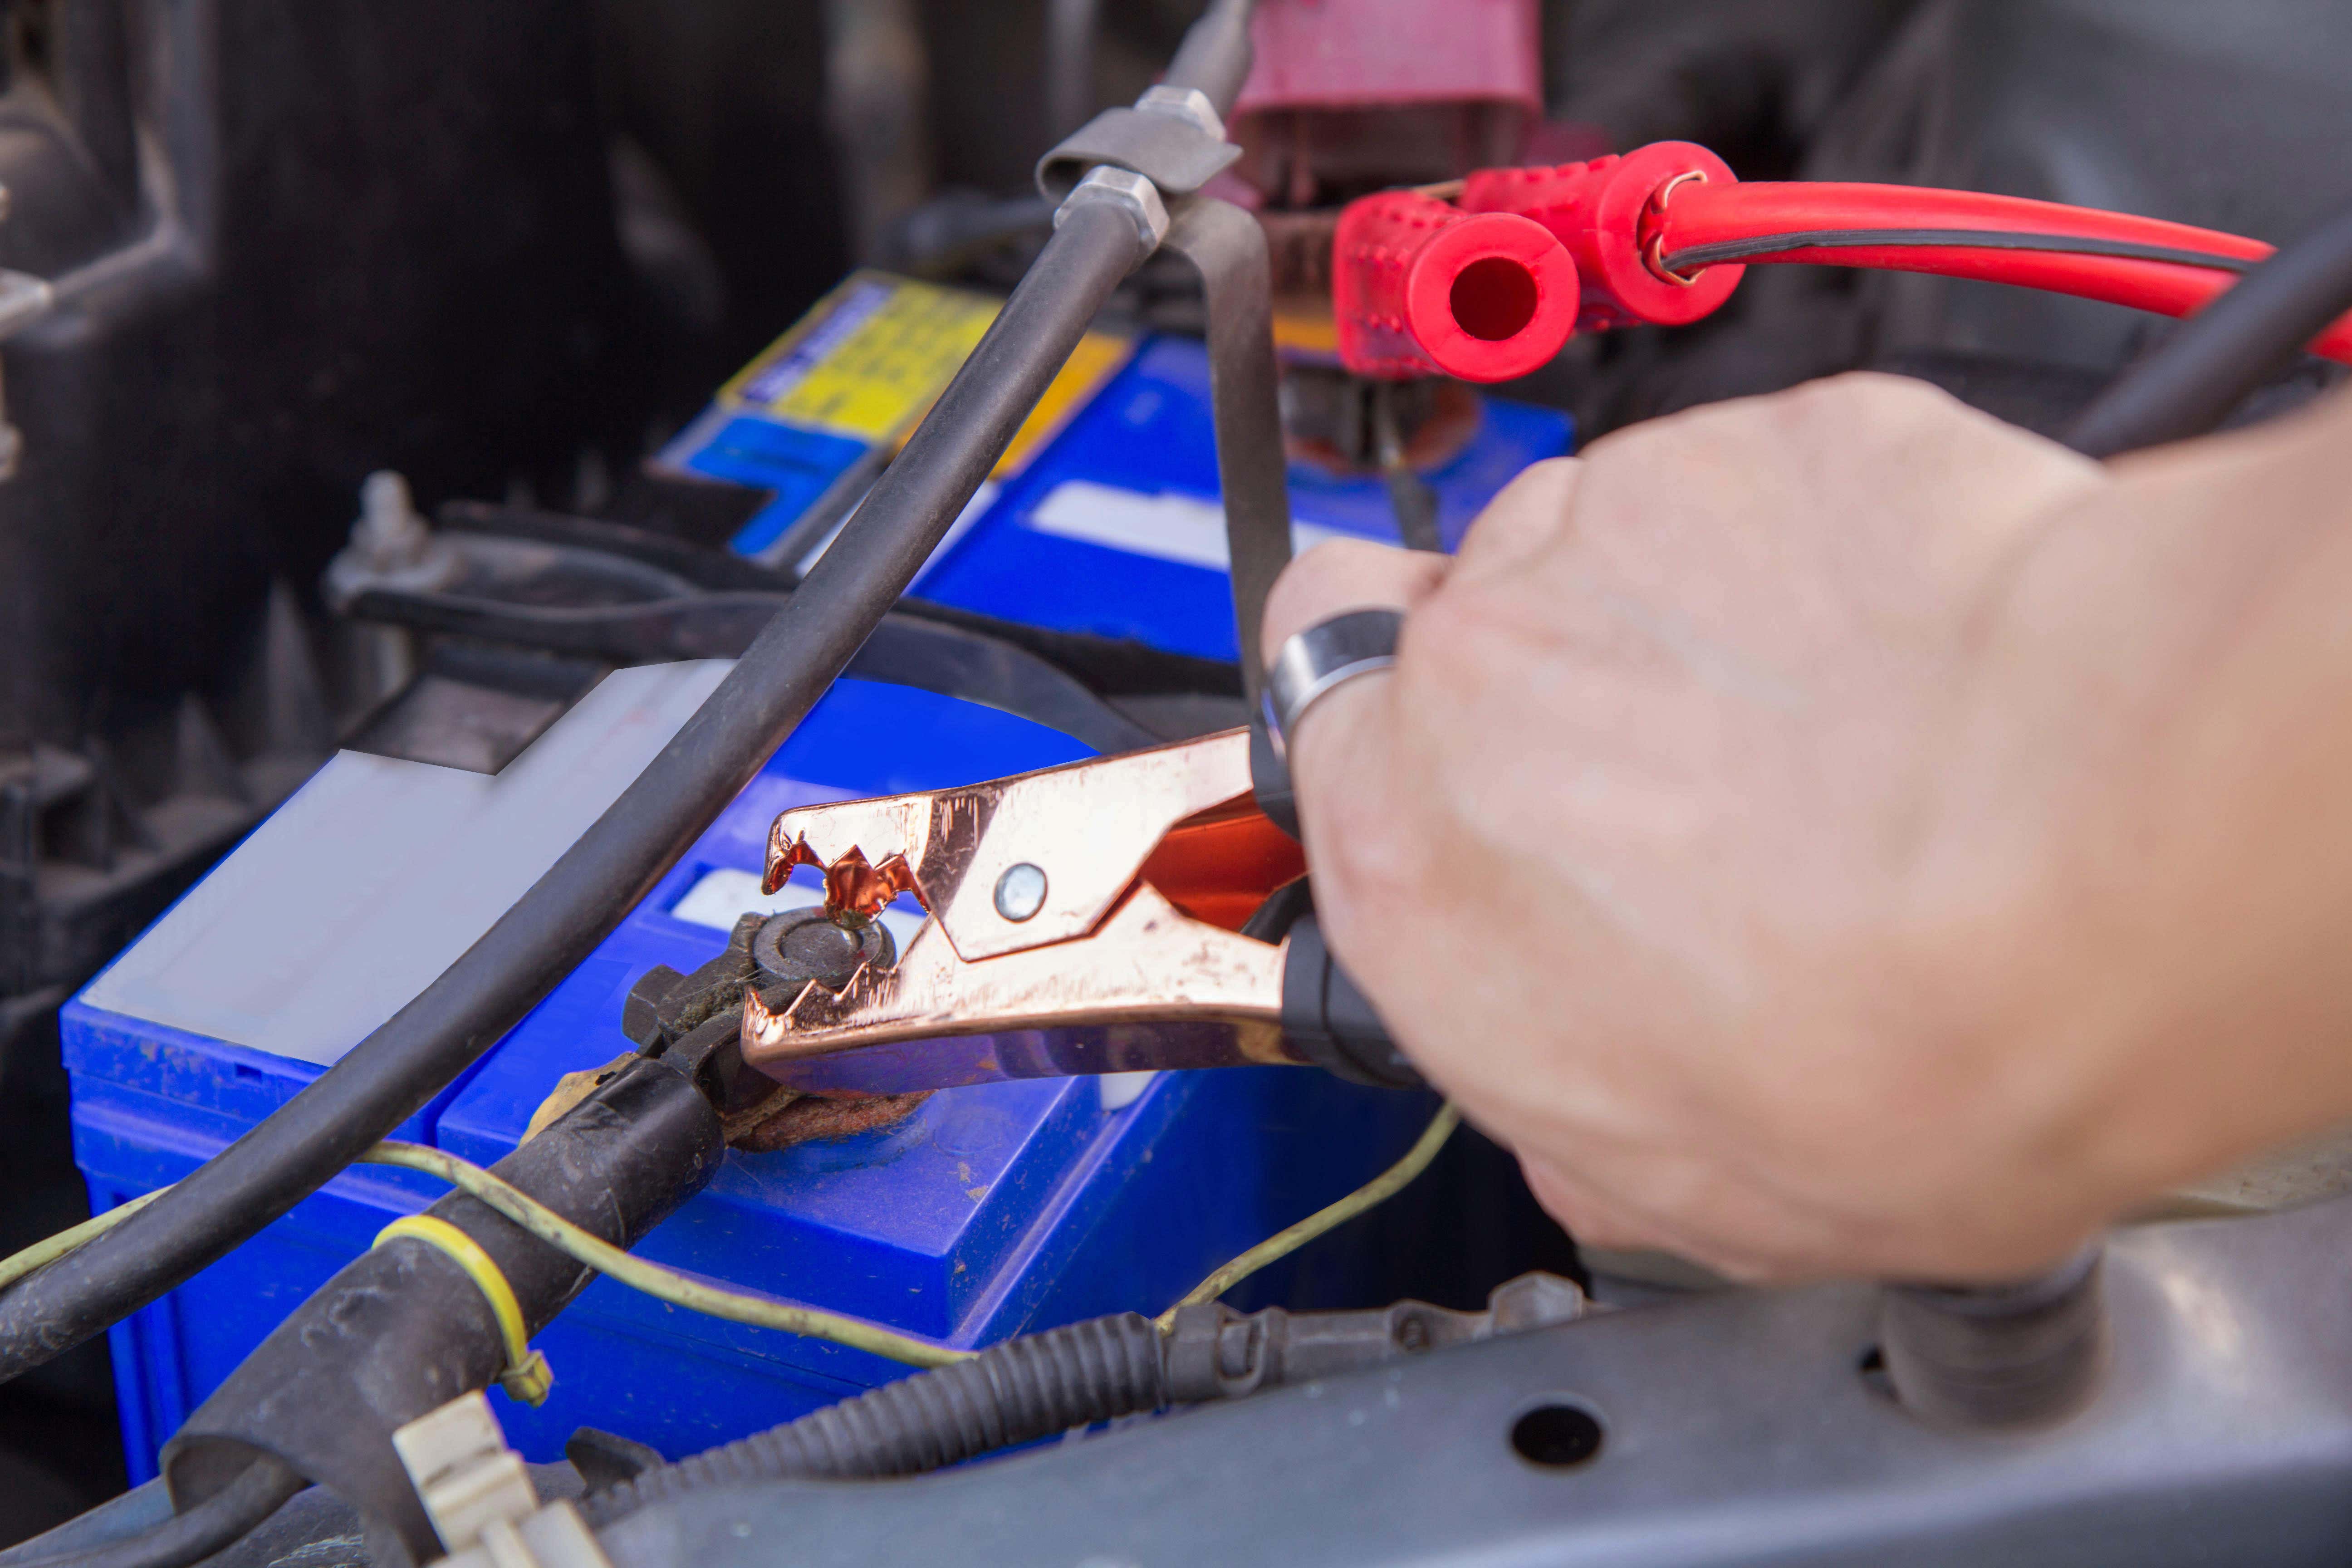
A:
<svg viewBox="0 0 2352 1568">
<path fill-rule="evenodd" d="M 969 1361 L 649 1469 L 586 1497 L 581 1512 L 590 1526 L 607 1526 L 706 1486 L 908 1476 L 1167 1403 L 1160 1331 L 1122 1312 L 1007 1340 Z"/>
</svg>

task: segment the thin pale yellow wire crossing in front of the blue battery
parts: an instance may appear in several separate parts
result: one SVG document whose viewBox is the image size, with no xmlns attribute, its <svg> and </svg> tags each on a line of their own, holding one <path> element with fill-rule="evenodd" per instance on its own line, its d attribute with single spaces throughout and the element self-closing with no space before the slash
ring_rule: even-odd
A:
<svg viewBox="0 0 2352 1568">
<path fill-rule="evenodd" d="M 1209 1279 L 1200 1281 L 1176 1307 L 1190 1307 L 1197 1302 L 1211 1302 L 1225 1291 L 1230 1291 L 1242 1279 L 1249 1279 L 1268 1262 L 1296 1253 L 1301 1246 L 1324 1234 L 1336 1225 L 1345 1225 L 1367 1208 L 1395 1197 L 1406 1182 L 1430 1168 L 1437 1159 L 1437 1150 L 1444 1147 L 1446 1138 L 1461 1124 L 1461 1112 L 1451 1105 L 1442 1107 L 1437 1117 L 1430 1119 L 1428 1131 L 1421 1140 L 1392 1164 L 1381 1175 L 1371 1178 L 1341 1201 L 1329 1208 L 1317 1208 L 1298 1225 L 1277 1232 L 1249 1248 Z M 840 1312 L 818 1312 L 814 1307 L 795 1307 L 781 1302 L 771 1295 L 750 1295 L 746 1291 L 724 1291 L 720 1286 L 706 1284 L 694 1274 L 682 1274 L 677 1269 L 666 1269 L 659 1262 L 647 1262 L 623 1253 L 619 1246 L 595 1237 L 572 1220 L 562 1218 L 529 1192 L 513 1187 L 482 1166 L 459 1159 L 456 1154 L 445 1154 L 442 1150 L 428 1150 L 416 1143 L 379 1143 L 376 1147 L 360 1154 L 358 1164 L 367 1166 L 402 1166 L 407 1171 L 423 1171 L 426 1175 L 437 1175 L 452 1187 L 480 1199 L 489 1208 L 499 1211 L 522 1229 L 532 1232 L 548 1246 L 562 1251 L 579 1262 L 586 1262 L 600 1274 L 609 1274 L 630 1291 L 642 1291 L 654 1300 L 670 1302 L 673 1307 L 687 1307 L 689 1312 L 701 1312 L 706 1316 L 722 1316 L 734 1324 L 750 1324 L 755 1328 L 781 1328 L 786 1333 L 807 1335 L 811 1340 L 830 1340 L 833 1345 L 849 1345 L 851 1349 L 863 1349 L 889 1361 L 901 1361 L 906 1366 L 948 1366 L 953 1361 L 969 1361 L 978 1352 L 953 1349 L 948 1345 L 934 1345 L 931 1340 L 917 1340 L 913 1335 L 891 1333 L 880 1324 L 868 1324 L 863 1319 L 842 1316 Z M 14 1253 L 12 1258 L 0 1258 L 0 1286 L 9 1286 L 24 1279 L 38 1267 L 56 1262 L 66 1253 L 96 1241 L 108 1229 L 132 1218 L 155 1199 L 160 1199 L 169 1187 L 158 1187 L 155 1192 L 141 1194 L 127 1204 L 108 1208 L 101 1215 L 92 1215 L 75 1225 L 73 1229 L 61 1229 L 47 1241 L 35 1241 L 33 1246 Z M 1176 1321 L 1176 1307 L 1160 1314 L 1157 1326 L 1162 1333 Z"/>
</svg>

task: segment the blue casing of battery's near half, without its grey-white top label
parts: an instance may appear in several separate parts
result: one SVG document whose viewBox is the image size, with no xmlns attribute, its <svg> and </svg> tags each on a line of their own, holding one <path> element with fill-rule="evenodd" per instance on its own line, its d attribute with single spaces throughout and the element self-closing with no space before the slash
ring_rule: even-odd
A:
<svg viewBox="0 0 2352 1568">
<path fill-rule="evenodd" d="M 477 1164 L 510 1152 L 564 1072 L 630 1051 L 621 997 L 654 964 L 724 945 L 675 907 L 713 872 L 750 877 L 793 804 L 995 778 L 1084 755 L 1023 719 L 924 691 L 840 682 L 621 926 L 452 1091 L 402 1126 Z M 809 877 L 809 872 L 802 872 Z M 811 889 L 814 896 L 814 889 Z M 186 1175 L 318 1067 L 87 1001 L 64 1011 L 75 1157 L 92 1206 Z M 1096 1079 L 953 1088 L 906 1124 L 776 1154 L 731 1152 L 637 1251 L 706 1279 L 976 1347 L 1160 1309 L 1223 1258 L 1395 1159 L 1428 1107 L 1312 1070 L 1160 1074 L 1105 1110 Z M 261 1338 L 440 1185 L 353 1168 L 230 1258 L 113 1331 L 134 1476 Z M 682 1312 L 597 1281 L 541 1338 L 555 1392 L 494 1394 L 515 1446 L 560 1458 L 576 1427 L 668 1455 L 743 1436 L 903 1368 Z"/>
</svg>

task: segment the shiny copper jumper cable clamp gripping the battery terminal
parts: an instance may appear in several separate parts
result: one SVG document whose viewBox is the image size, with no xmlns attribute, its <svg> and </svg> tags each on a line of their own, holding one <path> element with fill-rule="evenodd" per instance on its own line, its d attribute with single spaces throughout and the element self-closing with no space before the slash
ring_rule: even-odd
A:
<svg viewBox="0 0 2352 1568">
<path fill-rule="evenodd" d="M 1247 729 L 797 806 L 769 827 L 764 889 L 802 865 L 835 926 L 868 929 L 898 893 L 929 919 L 837 987 L 743 992 L 743 1060 L 793 1088 L 1247 1063 L 1418 1084 L 1322 945 L 1301 849 L 1251 792 Z"/>
</svg>

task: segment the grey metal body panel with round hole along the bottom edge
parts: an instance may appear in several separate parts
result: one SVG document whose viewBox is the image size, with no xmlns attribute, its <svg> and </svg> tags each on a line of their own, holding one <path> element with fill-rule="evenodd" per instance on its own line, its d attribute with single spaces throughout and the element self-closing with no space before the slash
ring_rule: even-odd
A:
<svg viewBox="0 0 2352 1568">
<path fill-rule="evenodd" d="M 1938 1432 L 1858 1371 L 1867 1286 L 1726 1293 L 1432 1352 L 917 1481 L 649 1507 L 616 1568 L 983 1563 L 2343 1563 L 2352 1204 L 2119 1234 L 2074 1420 Z M 1545 1469 L 1512 1425 L 1599 1418 Z"/>
</svg>

